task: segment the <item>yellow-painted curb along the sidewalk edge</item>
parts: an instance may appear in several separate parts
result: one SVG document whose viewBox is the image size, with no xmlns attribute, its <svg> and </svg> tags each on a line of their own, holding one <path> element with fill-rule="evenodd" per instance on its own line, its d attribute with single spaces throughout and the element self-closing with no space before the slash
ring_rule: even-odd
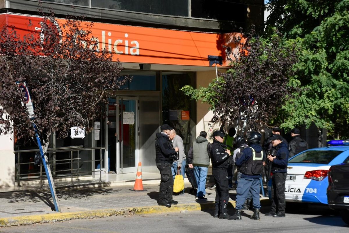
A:
<svg viewBox="0 0 349 233">
<path fill-rule="evenodd" d="M 268 199 L 261 199 L 261 205 L 267 205 Z M 230 201 L 229 206 L 235 208 L 235 201 Z M 214 202 L 191 203 L 172 205 L 171 208 L 165 206 L 143 206 L 129 207 L 121 209 L 103 209 L 103 210 L 86 210 L 76 212 L 61 212 L 50 214 L 38 214 L 19 217 L 0 218 L 0 226 L 18 226 L 30 225 L 36 223 L 52 223 L 57 221 L 67 221 L 71 219 L 87 219 L 87 218 L 103 218 L 110 216 L 132 216 L 134 214 L 154 214 L 154 213 L 170 213 L 181 211 L 198 211 L 198 210 L 213 210 Z"/>
</svg>

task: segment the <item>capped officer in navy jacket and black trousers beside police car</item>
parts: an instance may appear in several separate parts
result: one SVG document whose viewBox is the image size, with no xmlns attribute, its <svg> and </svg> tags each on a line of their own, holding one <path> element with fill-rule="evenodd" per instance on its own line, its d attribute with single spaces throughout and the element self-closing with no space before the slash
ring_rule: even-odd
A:
<svg viewBox="0 0 349 233">
<path fill-rule="evenodd" d="M 272 162 L 272 208 L 265 216 L 285 217 L 285 181 L 289 151 L 280 135 L 274 134 L 270 139 L 275 147 L 276 155 L 268 155 L 267 158 Z"/>
</svg>

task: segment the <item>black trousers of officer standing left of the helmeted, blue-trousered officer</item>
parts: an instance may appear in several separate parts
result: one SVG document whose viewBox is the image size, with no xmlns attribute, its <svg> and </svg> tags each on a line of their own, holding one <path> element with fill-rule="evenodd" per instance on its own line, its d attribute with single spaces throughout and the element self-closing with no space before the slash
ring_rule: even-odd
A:
<svg viewBox="0 0 349 233">
<path fill-rule="evenodd" d="M 216 184 L 215 212 L 227 213 L 229 202 L 229 182 L 227 169 L 212 168 Z"/>
</svg>

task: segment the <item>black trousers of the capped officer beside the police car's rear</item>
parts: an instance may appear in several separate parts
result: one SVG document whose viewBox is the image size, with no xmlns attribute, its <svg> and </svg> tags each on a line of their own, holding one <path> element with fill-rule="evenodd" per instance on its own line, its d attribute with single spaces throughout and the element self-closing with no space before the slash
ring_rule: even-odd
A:
<svg viewBox="0 0 349 233">
<path fill-rule="evenodd" d="M 285 181 L 287 173 L 274 173 L 272 179 L 272 211 L 274 213 L 285 213 Z"/>
</svg>

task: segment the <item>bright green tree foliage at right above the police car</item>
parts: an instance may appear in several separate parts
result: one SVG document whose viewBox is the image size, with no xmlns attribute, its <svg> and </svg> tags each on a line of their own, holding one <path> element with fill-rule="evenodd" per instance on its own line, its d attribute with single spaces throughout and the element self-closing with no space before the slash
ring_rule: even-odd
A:
<svg viewBox="0 0 349 233">
<path fill-rule="evenodd" d="M 315 123 L 333 137 L 348 137 L 349 0 L 271 0 L 267 31 L 296 39 L 294 83 L 301 88 L 281 111 L 283 128 Z"/>
</svg>

